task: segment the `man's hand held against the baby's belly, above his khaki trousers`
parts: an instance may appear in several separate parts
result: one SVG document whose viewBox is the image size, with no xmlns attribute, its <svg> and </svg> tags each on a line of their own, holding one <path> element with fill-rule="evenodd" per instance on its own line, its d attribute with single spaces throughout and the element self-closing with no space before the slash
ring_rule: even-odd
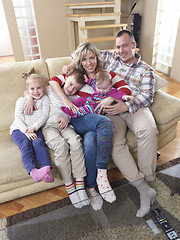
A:
<svg viewBox="0 0 180 240">
<path fill-rule="evenodd" d="M 109 115 L 116 115 L 119 113 L 124 113 L 127 112 L 128 106 L 122 102 L 122 101 L 118 101 L 116 104 L 112 105 L 112 106 L 106 106 L 103 109 L 104 113 L 108 113 Z"/>
</svg>

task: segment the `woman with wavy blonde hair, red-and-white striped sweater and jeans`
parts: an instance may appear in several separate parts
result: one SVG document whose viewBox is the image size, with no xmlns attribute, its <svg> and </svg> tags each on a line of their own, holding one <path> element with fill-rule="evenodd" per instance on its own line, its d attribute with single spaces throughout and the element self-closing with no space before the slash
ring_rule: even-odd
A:
<svg viewBox="0 0 180 240">
<path fill-rule="evenodd" d="M 75 62 L 73 62 L 73 65 L 64 66 L 63 71 L 68 73 L 68 70 L 70 70 L 71 67 L 72 69 L 74 69 L 76 66 L 76 68 L 84 72 L 87 78 L 94 79 L 97 72 L 102 69 L 103 64 L 100 53 L 92 43 L 86 42 L 79 45 L 79 47 L 75 51 L 74 59 Z M 69 71 L 68 74 L 70 74 L 70 72 L 72 71 Z M 111 73 L 111 75 L 113 75 L 113 81 L 116 81 L 115 74 Z M 119 82 L 120 86 L 123 86 L 124 92 L 126 94 L 130 94 L 128 85 L 125 84 L 124 81 Z M 77 107 L 73 105 L 72 102 L 70 102 L 62 92 L 62 89 L 60 87 L 62 81 L 56 76 L 53 77 L 49 83 L 52 89 L 56 92 L 56 94 L 63 100 L 64 105 L 69 107 L 72 111 L 76 112 Z M 83 88 L 80 95 L 82 94 L 82 92 Z M 87 177 L 85 178 L 85 181 L 87 192 L 91 200 L 91 205 L 95 210 L 100 209 L 102 206 L 102 199 L 95 190 L 96 185 L 98 185 L 99 192 L 105 200 L 107 200 L 108 202 L 113 202 L 116 199 L 114 192 L 112 191 L 110 184 L 107 180 L 107 164 L 109 162 L 111 146 L 109 146 L 109 152 L 107 152 L 107 149 L 104 149 L 106 153 L 101 153 L 101 156 L 99 155 L 99 153 L 101 152 L 100 149 L 103 149 L 103 144 L 107 146 L 107 143 L 109 144 L 111 142 L 110 139 L 109 141 L 108 139 L 104 138 L 102 141 L 102 138 L 99 138 L 99 129 L 101 129 L 101 131 L 109 131 L 109 123 L 107 124 L 108 121 L 109 119 L 104 116 L 87 114 L 83 117 L 71 119 L 70 123 L 75 128 L 77 133 L 84 134 L 84 156 L 87 169 Z M 100 126 L 103 126 L 103 128 Z M 102 161 L 105 163 L 103 166 L 102 163 L 99 164 L 100 159 L 102 159 Z"/>
</svg>

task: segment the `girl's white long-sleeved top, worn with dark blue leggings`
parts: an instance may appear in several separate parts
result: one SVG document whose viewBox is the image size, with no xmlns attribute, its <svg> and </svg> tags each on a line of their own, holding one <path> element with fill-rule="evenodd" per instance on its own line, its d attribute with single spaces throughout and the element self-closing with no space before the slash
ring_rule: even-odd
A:
<svg viewBox="0 0 180 240">
<path fill-rule="evenodd" d="M 34 100 L 37 110 L 34 110 L 32 115 L 28 115 L 24 112 L 26 101 L 27 99 L 25 97 L 20 97 L 16 101 L 15 120 L 10 126 L 10 134 L 16 129 L 25 133 L 27 127 L 30 126 L 33 126 L 37 131 L 45 124 L 49 117 L 50 101 L 48 96 L 45 95 L 38 100 Z"/>
</svg>

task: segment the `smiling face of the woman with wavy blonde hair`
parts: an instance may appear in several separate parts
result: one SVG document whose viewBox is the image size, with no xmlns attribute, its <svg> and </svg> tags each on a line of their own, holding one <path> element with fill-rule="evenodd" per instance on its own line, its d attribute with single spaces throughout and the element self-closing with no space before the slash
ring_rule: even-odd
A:
<svg viewBox="0 0 180 240">
<path fill-rule="evenodd" d="M 89 50 L 87 54 L 83 57 L 81 64 L 85 71 L 87 72 L 87 74 L 95 73 L 97 67 L 96 55 L 91 50 Z"/>
</svg>

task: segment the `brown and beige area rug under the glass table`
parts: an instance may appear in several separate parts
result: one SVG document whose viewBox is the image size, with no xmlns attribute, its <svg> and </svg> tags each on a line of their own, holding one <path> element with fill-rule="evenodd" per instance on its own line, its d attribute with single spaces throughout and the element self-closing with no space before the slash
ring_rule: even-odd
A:
<svg viewBox="0 0 180 240">
<path fill-rule="evenodd" d="M 180 197 L 172 195 L 174 177 L 159 171 L 180 163 L 180 158 L 157 166 L 154 188 L 157 197 L 152 208 L 160 208 L 170 224 L 180 235 Z M 136 218 L 139 194 L 125 179 L 112 183 L 117 200 L 104 202 L 100 211 L 90 206 L 75 209 L 68 198 L 30 209 L 0 220 L 1 240 L 164 240 L 152 212 Z M 160 233 L 155 234 L 146 223 L 152 219 Z"/>
</svg>

